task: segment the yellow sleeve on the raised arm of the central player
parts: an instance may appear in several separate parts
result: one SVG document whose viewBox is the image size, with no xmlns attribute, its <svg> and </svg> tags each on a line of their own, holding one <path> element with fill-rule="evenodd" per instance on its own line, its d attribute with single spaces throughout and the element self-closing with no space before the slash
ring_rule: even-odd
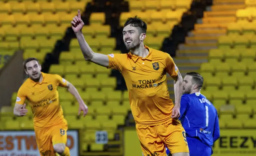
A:
<svg viewBox="0 0 256 156">
<path fill-rule="evenodd" d="M 126 54 L 109 54 L 108 56 L 108 67 L 119 70 L 122 72 L 124 62 L 126 61 Z"/>
</svg>

